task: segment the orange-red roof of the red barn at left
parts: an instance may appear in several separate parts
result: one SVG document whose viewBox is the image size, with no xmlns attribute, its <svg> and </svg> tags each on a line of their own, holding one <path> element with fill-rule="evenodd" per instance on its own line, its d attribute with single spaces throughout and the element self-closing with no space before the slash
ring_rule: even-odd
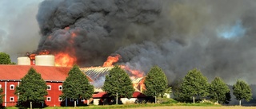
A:
<svg viewBox="0 0 256 109">
<path fill-rule="evenodd" d="M 43 80 L 64 81 L 70 72 L 70 67 L 37 66 L 37 65 L 14 65 L 0 64 L 0 80 L 21 80 L 30 68 L 40 73 Z M 88 76 L 88 80 L 92 82 Z"/>
</svg>

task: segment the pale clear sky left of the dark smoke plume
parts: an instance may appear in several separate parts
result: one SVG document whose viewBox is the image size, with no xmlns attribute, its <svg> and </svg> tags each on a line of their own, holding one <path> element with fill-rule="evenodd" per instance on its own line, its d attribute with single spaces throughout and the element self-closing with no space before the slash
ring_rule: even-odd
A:
<svg viewBox="0 0 256 109">
<path fill-rule="evenodd" d="M 40 2 L 42 0 L 0 1 L 0 52 L 10 54 L 14 62 L 18 55 L 37 49 L 40 35 L 36 14 Z"/>
</svg>

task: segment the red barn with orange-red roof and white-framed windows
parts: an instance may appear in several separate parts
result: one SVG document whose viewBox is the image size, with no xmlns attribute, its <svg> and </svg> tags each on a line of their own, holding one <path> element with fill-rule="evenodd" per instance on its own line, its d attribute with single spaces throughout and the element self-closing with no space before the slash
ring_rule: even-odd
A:
<svg viewBox="0 0 256 109">
<path fill-rule="evenodd" d="M 34 68 L 40 73 L 42 79 L 46 81 L 48 86 L 46 95 L 46 105 L 49 107 L 61 106 L 62 99 L 62 83 L 66 80 L 70 67 L 53 67 L 53 66 L 30 66 L 30 65 L 0 65 L 0 88 L 3 89 L 3 106 L 12 107 L 18 103 L 18 96 L 14 95 L 15 88 L 20 84 L 23 76 Z M 88 77 L 88 76 L 87 76 Z M 89 81 L 92 80 L 88 77 Z M 66 100 L 66 105 L 68 100 Z M 70 101 L 73 102 L 73 101 Z M 86 101 L 83 101 L 86 103 Z"/>
</svg>

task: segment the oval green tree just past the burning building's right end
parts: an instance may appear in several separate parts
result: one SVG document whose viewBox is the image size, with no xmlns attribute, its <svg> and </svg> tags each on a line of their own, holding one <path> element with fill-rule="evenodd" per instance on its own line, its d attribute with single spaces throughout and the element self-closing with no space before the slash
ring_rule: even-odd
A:
<svg viewBox="0 0 256 109">
<path fill-rule="evenodd" d="M 164 95 L 168 88 L 166 75 L 158 66 L 150 68 L 150 72 L 147 73 L 144 84 L 146 90 L 143 91 L 143 93 L 148 96 L 154 96 L 155 99 L 159 95 Z"/>
</svg>

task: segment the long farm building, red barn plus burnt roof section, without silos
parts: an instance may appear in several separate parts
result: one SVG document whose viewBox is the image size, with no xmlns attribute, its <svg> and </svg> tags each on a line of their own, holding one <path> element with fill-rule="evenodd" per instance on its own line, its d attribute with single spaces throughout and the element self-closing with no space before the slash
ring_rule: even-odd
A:
<svg viewBox="0 0 256 109">
<path fill-rule="evenodd" d="M 45 104 L 49 107 L 68 106 L 73 105 L 73 99 L 66 99 L 64 102 L 59 95 L 62 94 L 62 83 L 66 80 L 70 67 L 55 67 L 55 66 L 39 66 L 39 65 L 0 65 L 0 87 L 3 89 L 3 103 L 4 107 L 12 107 L 17 105 L 18 96 L 14 95 L 15 88 L 20 84 L 23 76 L 29 71 L 30 68 L 34 68 L 41 74 L 42 79 L 46 81 L 48 86 L 48 95 L 46 95 Z M 110 99 L 108 96 L 102 96 L 102 85 L 104 84 L 105 76 L 113 67 L 96 67 L 96 68 L 80 68 L 82 72 L 86 74 L 91 84 L 94 85 L 94 95 L 92 99 L 78 101 L 77 103 L 91 103 L 98 105 L 101 104 L 101 100 Z M 143 99 L 145 95 L 142 95 L 142 78 L 135 78 L 132 80 L 134 84 L 134 95 L 132 99 L 121 98 L 122 103 L 135 102 L 135 100 Z"/>
</svg>

